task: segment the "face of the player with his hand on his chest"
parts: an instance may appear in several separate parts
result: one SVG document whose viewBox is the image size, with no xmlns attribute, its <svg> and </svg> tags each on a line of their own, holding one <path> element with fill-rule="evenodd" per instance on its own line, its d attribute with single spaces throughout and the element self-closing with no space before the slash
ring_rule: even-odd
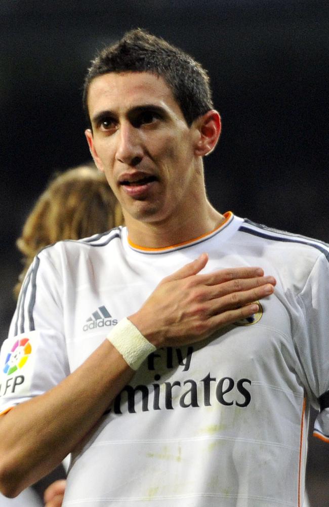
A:
<svg viewBox="0 0 329 507">
<path fill-rule="evenodd" d="M 203 186 L 188 127 L 165 81 L 150 73 L 109 73 L 89 88 L 86 136 L 125 219 L 162 222 L 195 205 Z"/>
</svg>

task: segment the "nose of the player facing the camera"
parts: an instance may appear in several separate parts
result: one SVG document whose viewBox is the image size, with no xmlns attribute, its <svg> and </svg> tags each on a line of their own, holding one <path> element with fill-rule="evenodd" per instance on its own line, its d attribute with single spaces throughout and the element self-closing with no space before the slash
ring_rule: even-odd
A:
<svg viewBox="0 0 329 507">
<path fill-rule="evenodd" d="M 116 160 L 136 166 L 143 158 L 143 148 L 139 131 L 130 123 L 121 123 L 117 132 Z"/>
</svg>

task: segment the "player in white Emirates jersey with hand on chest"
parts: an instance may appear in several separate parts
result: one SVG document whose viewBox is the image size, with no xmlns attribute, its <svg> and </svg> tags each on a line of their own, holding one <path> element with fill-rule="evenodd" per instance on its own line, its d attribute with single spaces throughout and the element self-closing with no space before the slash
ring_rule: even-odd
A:
<svg viewBox="0 0 329 507">
<path fill-rule="evenodd" d="M 2 490 L 73 452 L 63 505 L 302 505 L 311 401 L 328 434 L 327 246 L 211 206 L 220 117 L 188 55 L 134 30 L 85 103 L 127 229 L 27 274 L 1 356 Z"/>
</svg>

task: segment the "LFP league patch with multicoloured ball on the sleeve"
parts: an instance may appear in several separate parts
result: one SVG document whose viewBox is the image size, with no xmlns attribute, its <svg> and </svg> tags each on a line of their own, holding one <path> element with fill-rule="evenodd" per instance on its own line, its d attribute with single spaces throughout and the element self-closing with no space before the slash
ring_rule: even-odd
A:
<svg viewBox="0 0 329 507">
<path fill-rule="evenodd" d="M 0 352 L 0 397 L 30 396 L 38 331 L 22 333 L 4 341 Z"/>
</svg>

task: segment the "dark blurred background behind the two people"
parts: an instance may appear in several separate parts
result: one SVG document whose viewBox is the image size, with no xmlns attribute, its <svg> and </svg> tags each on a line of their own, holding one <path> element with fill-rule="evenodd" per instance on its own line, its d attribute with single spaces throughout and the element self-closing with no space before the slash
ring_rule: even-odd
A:
<svg viewBox="0 0 329 507">
<path fill-rule="evenodd" d="M 21 269 L 15 240 L 53 172 L 89 160 L 85 71 L 130 28 L 209 69 L 223 120 L 205 161 L 213 204 L 329 242 L 327 0 L 1 0 L 0 18 L 0 342 Z M 313 439 L 312 507 L 329 506 L 328 458 Z"/>
</svg>

